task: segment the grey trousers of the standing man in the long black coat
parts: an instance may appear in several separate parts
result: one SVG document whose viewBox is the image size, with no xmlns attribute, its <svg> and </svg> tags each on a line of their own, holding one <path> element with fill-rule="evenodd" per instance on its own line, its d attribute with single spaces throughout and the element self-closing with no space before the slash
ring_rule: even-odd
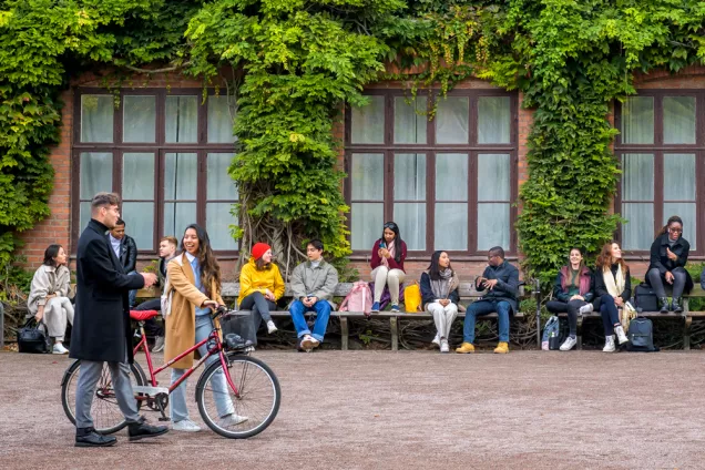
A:
<svg viewBox="0 0 705 470">
<path fill-rule="evenodd" d="M 103 375 L 103 361 L 81 360 L 81 374 L 75 390 L 75 427 L 92 428 L 91 406 L 95 395 L 95 386 Z M 137 400 L 130 382 L 130 365 L 125 362 L 108 362 L 115 398 L 120 411 L 130 422 L 137 422 Z"/>
</svg>

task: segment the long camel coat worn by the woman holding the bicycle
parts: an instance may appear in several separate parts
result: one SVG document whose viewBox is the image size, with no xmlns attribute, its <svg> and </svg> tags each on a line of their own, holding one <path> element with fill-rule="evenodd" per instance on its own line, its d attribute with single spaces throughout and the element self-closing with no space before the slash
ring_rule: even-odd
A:
<svg viewBox="0 0 705 470">
<path fill-rule="evenodd" d="M 195 345 L 196 306 L 201 307 L 205 300 L 208 300 L 208 297 L 196 288 L 196 279 L 186 254 L 177 256 L 181 256 L 181 265 L 175 258 L 166 265 L 166 276 L 174 288 L 174 297 L 172 298 L 172 313 L 166 317 L 165 361 L 172 360 Z M 211 300 L 215 300 L 219 305 L 225 304 L 221 297 L 221 286 L 216 286 L 214 283 L 211 286 L 211 292 L 217 293 L 215 298 L 211 298 Z M 184 356 L 171 367 L 188 369 L 193 366 L 193 352 Z"/>
</svg>

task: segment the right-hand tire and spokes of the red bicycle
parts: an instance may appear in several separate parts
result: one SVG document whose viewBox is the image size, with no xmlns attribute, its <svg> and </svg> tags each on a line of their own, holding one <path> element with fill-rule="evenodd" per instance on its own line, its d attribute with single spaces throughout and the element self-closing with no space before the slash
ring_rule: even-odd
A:
<svg viewBox="0 0 705 470">
<path fill-rule="evenodd" d="M 231 365 L 231 378 L 235 386 L 238 387 L 239 392 L 239 398 L 235 397 L 231 387 L 227 384 L 225 385 L 233 405 L 234 413 L 238 416 L 247 416 L 248 420 L 243 423 L 231 425 L 228 428 L 225 428 L 222 426 L 222 419 L 217 417 L 216 407 L 210 407 L 206 403 L 207 397 L 211 396 L 207 391 L 213 392 L 215 401 L 216 391 L 206 385 L 210 382 L 214 374 L 218 370 L 222 371 L 223 366 L 219 361 L 208 366 L 198 378 L 198 384 L 196 385 L 196 402 L 198 403 L 198 412 L 208 428 L 218 435 L 229 439 L 247 439 L 264 431 L 272 421 L 274 421 L 274 418 L 276 418 L 277 412 L 279 411 L 279 403 L 282 402 L 282 389 L 279 387 L 277 376 L 269 366 L 262 360 L 243 356 L 237 352 L 229 352 L 227 358 Z M 252 380 L 249 380 L 251 378 Z M 262 384 L 260 386 L 259 382 Z M 257 388 L 258 386 L 260 388 Z M 257 399 L 255 396 L 257 396 L 263 403 L 251 408 L 249 401 L 246 400 Z M 258 409 L 262 409 L 265 415 L 256 415 Z"/>
</svg>

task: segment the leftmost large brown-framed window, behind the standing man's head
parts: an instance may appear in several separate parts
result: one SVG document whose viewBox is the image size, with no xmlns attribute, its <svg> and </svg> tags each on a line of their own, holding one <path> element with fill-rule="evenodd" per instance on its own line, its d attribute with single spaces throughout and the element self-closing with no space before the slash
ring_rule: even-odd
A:
<svg viewBox="0 0 705 470">
<path fill-rule="evenodd" d="M 100 191 L 122 196 L 122 218 L 137 248 L 155 253 L 164 235 L 181 238 L 191 223 L 206 227 L 214 249 L 235 252 L 228 225 L 237 188 L 233 103 L 201 90 L 144 89 L 115 96 L 81 90 L 73 139 L 73 238 L 91 217 Z M 76 184 L 78 183 L 78 184 Z M 74 244 L 75 246 L 75 244 Z"/>
</svg>

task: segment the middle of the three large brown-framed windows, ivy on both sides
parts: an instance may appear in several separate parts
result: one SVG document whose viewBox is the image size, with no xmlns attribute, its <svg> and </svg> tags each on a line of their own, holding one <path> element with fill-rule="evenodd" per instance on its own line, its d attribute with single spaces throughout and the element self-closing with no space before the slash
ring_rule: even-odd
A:
<svg viewBox="0 0 705 470">
<path fill-rule="evenodd" d="M 495 245 L 514 253 L 515 95 L 453 91 L 432 120 L 428 95 L 372 90 L 369 100 L 346 115 L 354 252 L 371 249 L 382 224 L 395 221 L 411 256 L 477 255 Z"/>
</svg>

